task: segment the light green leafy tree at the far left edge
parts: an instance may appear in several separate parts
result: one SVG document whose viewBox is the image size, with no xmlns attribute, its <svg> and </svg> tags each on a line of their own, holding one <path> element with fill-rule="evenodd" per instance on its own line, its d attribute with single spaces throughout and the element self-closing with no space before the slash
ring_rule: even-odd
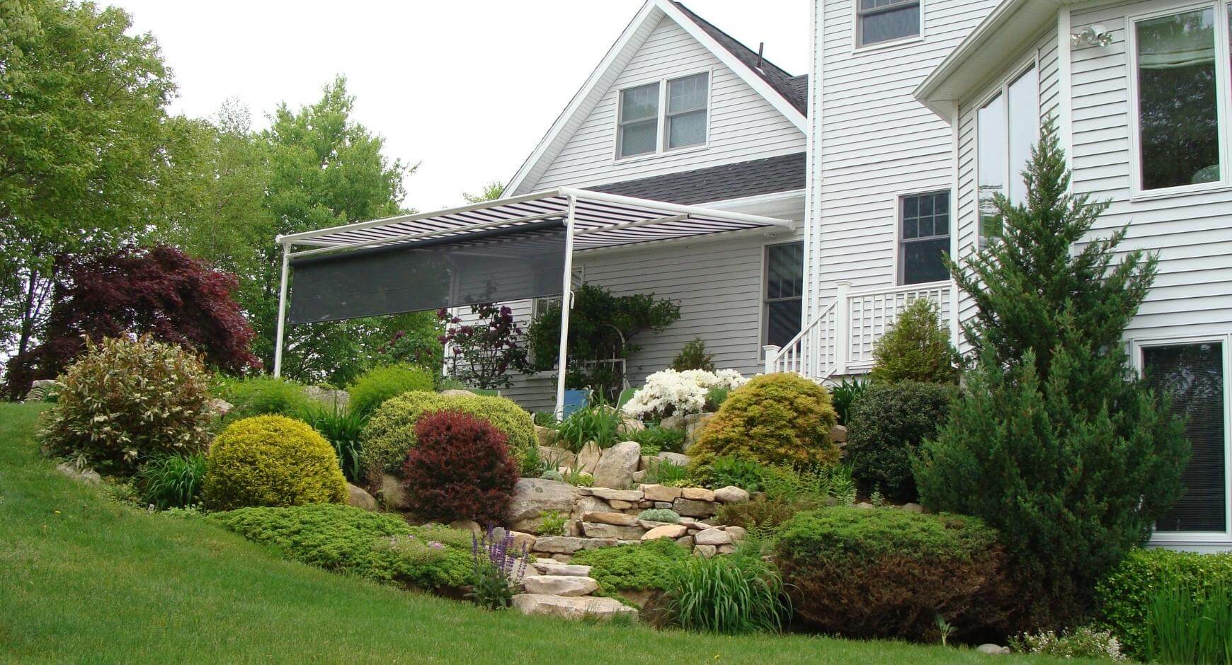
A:
<svg viewBox="0 0 1232 665">
<path fill-rule="evenodd" d="M 131 27 L 92 2 L 0 2 L 0 349 L 37 336 L 55 256 L 143 230 L 174 84 Z"/>
</svg>

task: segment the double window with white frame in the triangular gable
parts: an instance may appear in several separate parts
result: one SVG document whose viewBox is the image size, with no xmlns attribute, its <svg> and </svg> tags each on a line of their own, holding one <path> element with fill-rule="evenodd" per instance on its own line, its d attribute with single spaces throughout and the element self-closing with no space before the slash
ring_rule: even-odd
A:
<svg viewBox="0 0 1232 665">
<path fill-rule="evenodd" d="M 616 156 L 703 145 L 708 112 L 708 71 L 621 90 Z"/>
</svg>

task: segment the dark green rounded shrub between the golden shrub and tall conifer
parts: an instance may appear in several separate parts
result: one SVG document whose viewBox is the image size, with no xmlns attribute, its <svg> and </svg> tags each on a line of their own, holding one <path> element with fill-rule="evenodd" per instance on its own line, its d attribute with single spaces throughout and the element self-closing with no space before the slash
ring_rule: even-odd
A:
<svg viewBox="0 0 1232 665">
<path fill-rule="evenodd" d="M 952 385 L 875 383 L 851 406 L 848 459 L 865 490 L 902 501 L 917 498 L 912 457 L 950 414 Z"/>
</svg>

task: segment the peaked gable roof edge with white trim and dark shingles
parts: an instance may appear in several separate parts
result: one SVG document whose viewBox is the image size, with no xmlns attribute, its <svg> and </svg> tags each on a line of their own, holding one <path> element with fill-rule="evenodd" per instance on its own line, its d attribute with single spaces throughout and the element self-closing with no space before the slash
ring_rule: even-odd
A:
<svg viewBox="0 0 1232 665">
<path fill-rule="evenodd" d="M 514 174 L 514 177 L 505 186 L 505 192 L 510 195 L 525 193 L 521 186 L 527 181 L 536 181 L 543 174 L 664 17 L 671 18 L 697 43 L 710 50 L 733 74 L 791 121 L 797 129 L 802 133 L 808 132 L 803 111 L 807 106 L 804 95 L 797 92 L 798 83 L 787 83 L 793 79 L 790 74 L 765 59 L 761 62 L 763 66 L 758 68 L 756 53 L 692 14 L 684 5 L 674 0 L 646 0 L 642 9 L 621 32 L 616 43 L 600 60 L 599 66 L 590 74 L 586 83 L 564 107 L 564 111 L 557 116 L 547 134 Z"/>
</svg>

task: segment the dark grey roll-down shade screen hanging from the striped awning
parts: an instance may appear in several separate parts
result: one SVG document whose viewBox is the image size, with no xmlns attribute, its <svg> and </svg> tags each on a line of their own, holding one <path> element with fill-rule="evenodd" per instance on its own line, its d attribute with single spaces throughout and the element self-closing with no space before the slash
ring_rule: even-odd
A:
<svg viewBox="0 0 1232 665">
<path fill-rule="evenodd" d="M 291 260 L 293 324 L 561 293 L 564 220 Z"/>
</svg>

